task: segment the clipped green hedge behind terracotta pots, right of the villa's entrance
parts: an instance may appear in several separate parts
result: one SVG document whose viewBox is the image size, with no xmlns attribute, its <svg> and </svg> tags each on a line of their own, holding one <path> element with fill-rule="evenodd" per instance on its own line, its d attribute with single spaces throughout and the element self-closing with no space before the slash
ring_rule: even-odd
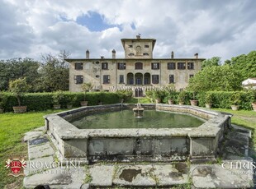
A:
<svg viewBox="0 0 256 189">
<path fill-rule="evenodd" d="M 155 91 L 146 91 L 146 95 L 149 99 L 154 100 Z M 161 96 L 162 103 L 168 104 L 168 99 L 172 96 L 174 104 L 178 104 L 179 92 L 168 92 L 166 90 L 159 90 L 158 95 Z M 230 109 L 233 104 L 232 97 L 236 94 L 239 95 L 239 109 L 252 110 L 251 103 L 254 102 L 254 94 L 250 91 L 208 91 L 204 93 L 198 93 L 196 99 L 199 101 L 199 106 L 205 107 L 206 94 L 212 95 L 212 108 L 228 108 Z M 186 98 L 184 104 L 190 105 L 190 100 L 193 99 L 192 92 L 186 92 Z"/>
</svg>

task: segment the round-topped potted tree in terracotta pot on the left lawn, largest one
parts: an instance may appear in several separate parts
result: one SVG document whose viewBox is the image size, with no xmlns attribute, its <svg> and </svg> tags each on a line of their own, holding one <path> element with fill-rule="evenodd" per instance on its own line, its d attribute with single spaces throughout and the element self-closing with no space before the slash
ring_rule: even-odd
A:
<svg viewBox="0 0 256 189">
<path fill-rule="evenodd" d="M 26 113 L 26 106 L 21 106 L 21 97 L 29 90 L 26 78 L 19 78 L 9 82 L 9 90 L 16 97 L 18 106 L 13 106 L 14 113 Z"/>
</svg>

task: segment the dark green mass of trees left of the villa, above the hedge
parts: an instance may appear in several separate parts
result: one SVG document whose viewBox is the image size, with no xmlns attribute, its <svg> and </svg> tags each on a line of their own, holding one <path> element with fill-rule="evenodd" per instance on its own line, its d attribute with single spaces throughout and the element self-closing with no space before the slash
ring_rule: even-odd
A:
<svg viewBox="0 0 256 189">
<path fill-rule="evenodd" d="M 26 78 L 30 92 L 69 90 L 69 65 L 64 62 L 69 53 L 42 55 L 42 62 L 31 58 L 0 61 L 0 90 L 8 90 L 10 81 Z"/>
</svg>

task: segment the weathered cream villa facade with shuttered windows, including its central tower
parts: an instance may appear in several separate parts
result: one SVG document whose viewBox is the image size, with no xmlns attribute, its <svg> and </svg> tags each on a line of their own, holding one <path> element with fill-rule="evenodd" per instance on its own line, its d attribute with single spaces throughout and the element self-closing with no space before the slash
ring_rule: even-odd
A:
<svg viewBox="0 0 256 189">
<path fill-rule="evenodd" d="M 204 58 L 153 58 L 156 39 L 121 39 L 125 58 L 66 59 L 69 62 L 69 90 L 81 91 L 81 84 L 92 83 L 94 90 L 134 90 L 134 95 L 145 95 L 145 89 L 164 87 L 173 84 L 176 90 L 182 90 L 189 79 L 201 70 Z M 140 90 L 138 90 L 140 89 Z"/>
</svg>

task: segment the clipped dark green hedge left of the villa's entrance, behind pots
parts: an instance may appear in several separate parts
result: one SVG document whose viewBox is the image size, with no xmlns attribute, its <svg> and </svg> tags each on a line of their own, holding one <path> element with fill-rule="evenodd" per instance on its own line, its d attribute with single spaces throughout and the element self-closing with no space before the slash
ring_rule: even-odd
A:
<svg viewBox="0 0 256 189">
<path fill-rule="evenodd" d="M 42 111 L 53 108 L 53 96 L 55 93 L 27 93 L 21 97 L 21 105 L 27 106 L 27 111 Z M 61 107 L 66 108 L 68 104 L 73 107 L 79 107 L 80 102 L 83 101 L 83 92 L 63 92 L 64 98 L 60 100 Z M 126 96 L 127 95 L 127 96 Z M 102 104 L 116 104 L 120 103 L 121 99 L 129 99 L 130 93 L 124 95 L 123 93 L 112 92 L 88 92 L 86 93 L 85 100 L 88 105 Z M 125 98 L 126 97 L 126 98 Z M 12 106 L 17 106 L 17 99 L 12 93 L 2 92 L 2 98 L 6 102 L 2 104 L 5 112 L 12 112 Z"/>
</svg>

